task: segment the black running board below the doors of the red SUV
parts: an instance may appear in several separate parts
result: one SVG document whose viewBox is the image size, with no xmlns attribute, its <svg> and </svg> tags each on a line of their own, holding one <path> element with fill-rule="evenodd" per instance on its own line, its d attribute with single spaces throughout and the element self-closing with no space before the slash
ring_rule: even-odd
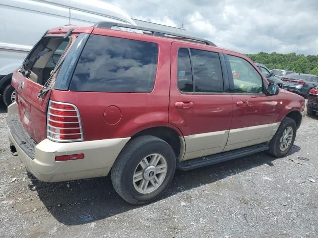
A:
<svg viewBox="0 0 318 238">
<path fill-rule="evenodd" d="M 239 157 L 251 155 L 251 154 L 254 154 L 257 152 L 268 150 L 268 148 L 269 147 L 267 144 L 258 144 L 258 145 L 245 147 L 242 149 L 222 152 L 222 153 L 215 154 L 215 155 L 203 156 L 203 157 L 197 158 L 197 159 L 181 161 L 177 165 L 177 169 L 178 170 L 192 170 L 192 169 L 200 168 L 203 166 L 213 165 L 213 164 L 217 164 L 217 163 L 224 162 L 227 160 L 233 160 L 233 159 L 236 159 Z"/>
</svg>

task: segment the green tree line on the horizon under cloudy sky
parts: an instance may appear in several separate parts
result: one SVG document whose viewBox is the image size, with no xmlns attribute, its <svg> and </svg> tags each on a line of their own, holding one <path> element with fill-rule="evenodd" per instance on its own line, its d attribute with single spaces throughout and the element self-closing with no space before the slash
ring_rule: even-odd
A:
<svg viewBox="0 0 318 238">
<path fill-rule="evenodd" d="M 296 53 L 278 54 L 260 52 L 258 54 L 246 54 L 251 60 L 265 64 L 268 68 L 289 69 L 297 73 L 309 73 L 318 75 L 318 55 L 305 56 Z"/>
</svg>

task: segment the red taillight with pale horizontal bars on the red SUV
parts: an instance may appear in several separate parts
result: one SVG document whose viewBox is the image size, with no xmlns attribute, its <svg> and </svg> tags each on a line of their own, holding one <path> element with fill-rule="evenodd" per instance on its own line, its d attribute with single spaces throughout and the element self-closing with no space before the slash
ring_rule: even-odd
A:
<svg viewBox="0 0 318 238">
<path fill-rule="evenodd" d="M 70 103 L 49 102 L 46 137 L 53 141 L 70 142 L 83 140 L 78 108 Z"/>
</svg>

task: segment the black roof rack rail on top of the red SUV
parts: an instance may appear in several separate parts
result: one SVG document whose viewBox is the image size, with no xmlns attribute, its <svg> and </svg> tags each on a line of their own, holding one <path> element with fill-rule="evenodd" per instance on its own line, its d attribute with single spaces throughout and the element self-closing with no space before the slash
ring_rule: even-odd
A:
<svg viewBox="0 0 318 238">
<path fill-rule="evenodd" d="M 174 37 L 169 37 L 169 38 L 185 40 L 185 41 L 201 42 L 201 43 L 204 43 L 206 45 L 216 47 L 216 45 L 213 42 L 205 40 L 205 39 L 181 35 L 181 34 L 175 34 L 173 32 L 168 32 L 168 31 L 151 29 L 148 27 L 134 26 L 134 25 L 128 25 L 128 24 L 122 24 L 122 23 L 110 22 L 110 21 L 99 21 L 99 22 L 95 23 L 93 26 L 97 27 L 97 28 L 107 28 L 107 29 L 111 29 L 112 27 L 117 26 L 117 27 L 124 27 L 124 28 L 141 30 L 141 31 L 148 31 L 148 32 L 151 32 L 151 34 L 154 36 L 168 37 L 166 35 L 169 35 L 169 36 L 174 36 Z"/>
</svg>

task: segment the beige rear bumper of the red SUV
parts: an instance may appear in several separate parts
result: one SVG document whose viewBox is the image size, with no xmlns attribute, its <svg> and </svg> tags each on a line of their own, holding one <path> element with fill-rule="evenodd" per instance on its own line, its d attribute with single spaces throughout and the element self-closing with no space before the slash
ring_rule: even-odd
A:
<svg viewBox="0 0 318 238">
<path fill-rule="evenodd" d="M 17 105 L 13 103 L 8 108 L 8 119 L 16 114 Z M 11 128 L 8 126 L 9 140 L 15 146 L 20 161 L 25 165 L 27 171 L 45 182 L 106 176 L 118 154 L 130 139 L 118 138 L 69 143 L 44 139 L 39 144 L 30 144 L 30 147 L 33 146 L 32 148 L 34 148 L 34 158 L 32 158 L 32 153 L 22 148 L 21 145 L 25 143 L 22 141 L 21 144 L 19 137 L 14 133 L 15 128 L 12 128 L 12 125 L 10 126 Z M 84 154 L 84 159 L 62 162 L 55 161 L 55 156 L 80 153 Z"/>
</svg>

